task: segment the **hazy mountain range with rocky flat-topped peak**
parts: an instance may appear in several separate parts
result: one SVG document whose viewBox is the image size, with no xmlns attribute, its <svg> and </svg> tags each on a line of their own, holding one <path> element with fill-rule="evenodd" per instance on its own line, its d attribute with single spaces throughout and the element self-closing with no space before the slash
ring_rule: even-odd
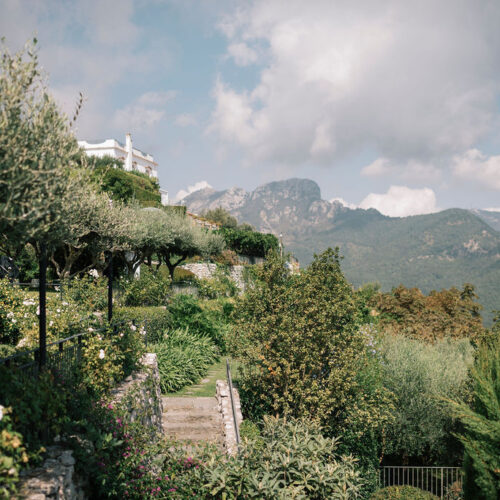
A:
<svg viewBox="0 0 500 500">
<path fill-rule="evenodd" d="M 252 192 L 205 188 L 183 199 L 195 213 L 223 207 L 259 231 L 283 234 L 285 249 L 301 262 L 329 246 L 340 247 L 342 268 L 359 286 L 384 290 L 402 283 L 433 289 L 476 286 L 484 317 L 500 309 L 500 213 L 459 208 L 411 217 L 387 217 L 375 209 L 350 209 L 321 199 L 309 179 L 288 179 Z"/>
</svg>

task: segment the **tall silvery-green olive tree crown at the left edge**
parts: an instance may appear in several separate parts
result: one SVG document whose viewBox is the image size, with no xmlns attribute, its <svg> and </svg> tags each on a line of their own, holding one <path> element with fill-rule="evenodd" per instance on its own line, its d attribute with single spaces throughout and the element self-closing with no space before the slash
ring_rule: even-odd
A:
<svg viewBox="0 0 500 500">
<path fill-rule="evenodd" d="M 16 54 L 0 49 L 0 245 L 15 254 L 28 241 L 66 234 L 61 207 L 81 152 L 48 94 L 36 40 Z"/>
</svg>

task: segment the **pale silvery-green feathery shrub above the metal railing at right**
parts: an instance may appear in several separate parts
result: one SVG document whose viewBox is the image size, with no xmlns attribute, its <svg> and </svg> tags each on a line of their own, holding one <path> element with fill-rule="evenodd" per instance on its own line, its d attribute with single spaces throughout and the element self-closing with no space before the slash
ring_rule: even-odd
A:
<svg viewBox="0 0 500 500">
<path fill-rule="evenodd" d="M 413 465 L 459 462 L 462 450 L 451 435 L 456 426 L 443 398 L 469 397 L 469 341 L 426 344 L 386 335 L 381 350 L 383 382 L 396 406 L 395 420 L 386 431 L 387 460 Z"/>
</svg>

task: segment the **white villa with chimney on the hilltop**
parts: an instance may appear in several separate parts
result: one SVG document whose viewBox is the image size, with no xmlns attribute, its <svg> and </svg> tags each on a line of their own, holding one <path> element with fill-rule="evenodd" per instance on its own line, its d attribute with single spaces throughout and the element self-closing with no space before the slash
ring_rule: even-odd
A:
<svg viewBox="0 0 500 500">
<path fill-rule="evenodd" d="M 106 139 L 101 142 L 78 141 L 78 145 L 85 150 L 88 156 L 111 156 L 123 161 L 125 170 L 136 170 L 158 180 L 158 163 L 154 158 L 139 149 L 132 147 L 132 136 L 126 134 L 125 144 L 116 139 Z M 162 205 L 168 205 L 168 191 L 160 189 Z"/>
</svg>

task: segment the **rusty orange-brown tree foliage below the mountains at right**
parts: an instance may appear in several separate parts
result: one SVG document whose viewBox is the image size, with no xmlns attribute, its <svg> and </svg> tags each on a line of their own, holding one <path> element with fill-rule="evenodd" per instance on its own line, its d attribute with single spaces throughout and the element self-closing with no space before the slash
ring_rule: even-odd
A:
<svg viewBox="0 0 500 500">
<path fill-rule="evenodd" d="M 381 329 L 427 342 L 445 337 L 478 340 L 485 329 L 476 299 L 468 283 L 463 290 L 452 287 L 429 295 L 400 285 L 390 293 L 372 295 L 370 305 L 380 314 Z"/>
</svg>

